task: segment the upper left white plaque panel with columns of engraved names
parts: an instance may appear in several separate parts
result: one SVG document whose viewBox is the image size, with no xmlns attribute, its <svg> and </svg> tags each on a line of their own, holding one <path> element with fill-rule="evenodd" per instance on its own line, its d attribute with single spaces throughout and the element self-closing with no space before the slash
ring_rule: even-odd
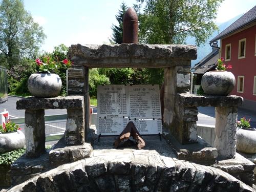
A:
<svg viewBox="0 0 256 192">
<path fill-rule="evenodd" d="M 129 95 L 127 86 L 98 86 L 98 117 L 128 117 Z"/>
</svg>

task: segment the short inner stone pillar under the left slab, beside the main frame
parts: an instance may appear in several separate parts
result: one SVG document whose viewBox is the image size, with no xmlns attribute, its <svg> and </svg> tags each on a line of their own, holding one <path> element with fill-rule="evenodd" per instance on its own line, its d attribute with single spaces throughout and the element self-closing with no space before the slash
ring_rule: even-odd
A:
<svg viewBox="0 0 256 192">
<path fill-rule="evenodd" d="M 65 142 L 67 145 L 82 145 L 84 143 L 84 110 L 67 109 Z"/>
</svg>

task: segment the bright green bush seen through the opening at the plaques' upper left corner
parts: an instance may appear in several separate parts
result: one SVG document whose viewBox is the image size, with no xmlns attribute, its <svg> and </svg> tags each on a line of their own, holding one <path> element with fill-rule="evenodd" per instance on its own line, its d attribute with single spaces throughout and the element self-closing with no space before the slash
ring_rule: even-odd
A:
<svg viewBox="0 0 256 192">
<path fill-rule="evenodd" d="M 102 84 L 110 84 L 110 79 L 104 74 L 99 74 L 98 69 L 89 70 L 89 90 L 91 97 L 97 97 L 97 88 Z"/>
</svg>

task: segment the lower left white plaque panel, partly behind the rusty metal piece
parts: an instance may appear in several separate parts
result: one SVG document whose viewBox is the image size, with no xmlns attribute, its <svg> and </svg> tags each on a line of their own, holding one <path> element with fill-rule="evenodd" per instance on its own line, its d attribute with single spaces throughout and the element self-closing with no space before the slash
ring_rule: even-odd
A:
<svg viewBox="0 0 256 192">
<path fill-rule="evenodd" d="M 119 135 L 129 122 L 129 118 L 97 118 L 97 135 Z"/>
</svg>

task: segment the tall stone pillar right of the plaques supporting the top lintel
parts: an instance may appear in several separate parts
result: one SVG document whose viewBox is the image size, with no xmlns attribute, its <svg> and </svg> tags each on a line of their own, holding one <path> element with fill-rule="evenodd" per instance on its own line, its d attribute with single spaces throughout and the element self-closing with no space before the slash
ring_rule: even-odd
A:
<svg viewBox="0 0 256 192">
<path fill-rule="evenodd" d="M 190 66 L 187 66 L 187 63 L 188 61 L 186 60 L 181 61 L 183 67 L 164 69 L 163 124 L 169 128 L 170 133 L 182 144 L 190 142 L 190 130 L 196 129 L 196 120 L 191 121 L 184 116 L 189 110 L 184 109 L 176 96 L 177 93 L 189 92 Z M 195 134 L 194 131 L 193 134 Z"/>
</svg>

